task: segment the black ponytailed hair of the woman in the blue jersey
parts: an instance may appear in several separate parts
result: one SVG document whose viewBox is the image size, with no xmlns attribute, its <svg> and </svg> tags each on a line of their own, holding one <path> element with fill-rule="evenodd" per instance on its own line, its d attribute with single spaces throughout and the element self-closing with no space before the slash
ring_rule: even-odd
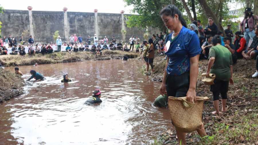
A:
<svg viewBox="0 0 258 145">
<path fill-rule="evenodd" d="M 159 15 L 166 15 L 166 16 L 171 16 L 175 17 L 175 14 L 178 15 L 178 19 L 181 22 L 181 24 L 187 28 L 185 19 L 183 18 L 183 15 L 181 11 L 177 8 L 175 5 L 167 5 L 166 7 L 163 7 L 161 11 L 159 12 Z"/>
</svg>

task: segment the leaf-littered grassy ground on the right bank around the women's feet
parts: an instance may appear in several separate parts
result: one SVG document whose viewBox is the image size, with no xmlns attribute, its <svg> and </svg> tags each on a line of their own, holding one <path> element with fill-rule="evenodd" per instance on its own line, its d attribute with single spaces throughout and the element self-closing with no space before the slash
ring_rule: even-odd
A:
<svg viewBox="0 0 258 145">
<path fill-rule="evenodd" d="M 155 57 L 155 73 L 151 76 L 156 81 L 162 80 L 165 68 L 164 57 Z M 197 96 L 208 96 L 209 101 L 204 103 L 203 122 L 208 136 L 201 138 L 197 132 L 188 133 L 187 144 L 250 144 L 258 145 L 258 82 L 251 78 L 255 72 L 255 60 L 238 60 L 233 65 L 234 85 L 229 87 L 227 106 L 228 111 L 223 115 L 214 116 L 212 93 L 210 86 L 201 82 L 202 73 L 206 72 L 207 60 L 200 61 L 197 83 Z M 220 102 L 220 108 L 221 108 Z M 175 130 L 165 130 L 158 135 L 153 145 L 178 144 Z"/>
</svg>

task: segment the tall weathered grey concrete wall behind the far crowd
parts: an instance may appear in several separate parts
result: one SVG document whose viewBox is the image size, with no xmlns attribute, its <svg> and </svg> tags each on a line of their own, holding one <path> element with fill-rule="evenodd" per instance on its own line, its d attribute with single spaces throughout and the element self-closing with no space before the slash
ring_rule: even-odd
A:
<svg viewBox="0 0 258 145">
<path fill-rule="evenodd" d="M 128 16 L 128 15 L 127 15 Z M 4 14 L 0 14 L 0 21 L 2 24 L 2 35 L 19 37 L 22 31 L 30 30 L 29 25 L 29 13 L 24 10 L 5 10 Z M 83 40 L 90 35 L 94 36 L 95 27 L 98 30 L 98 37 L 112 39 L 112 36 L 119 40 L 122 39 L 122 14 L 114 13 L 97 13 L 97 25 L 95 26 L 94 13 L 84 12 L 67 12 L 67 26 L 64 26 L 64 12 L 63 11 L 33 11 L 32 10 L 32 24 L 34 32 L 35 42 L 50 43 L 53 42 L 53 35 L 55 31 L 59 31 L 59 35 L 62 40 L 68 40 L 69 37 L 65 37 L 64 27 L 67 27 L 67 34 L 82 35 Z M 134 35 L 143 39 L 144 30 L 138 28 L 126 27 L 127 18 L 124 17 L 124 25 L 127 31 L 125 40 L 129 41 L 129 38 Z M 153 34 L 158 31 L 153 31 Z M 27 39 L 27 38 L 26 38 Z"/>
</svg>

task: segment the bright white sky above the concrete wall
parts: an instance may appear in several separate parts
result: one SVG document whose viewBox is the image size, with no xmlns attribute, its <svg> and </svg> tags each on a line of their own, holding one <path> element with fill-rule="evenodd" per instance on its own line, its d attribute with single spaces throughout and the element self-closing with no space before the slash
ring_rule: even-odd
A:
<svg viewBox="0 0 258 145">
<path fill-rule="evenodd" d="M 32 6 L 32 11 L 63 11 L 63 7 L 67 7 L 67 11 L 74 12 L 94 12 L 98 9 L 98 13 L 120 13 L 121 10 L 125 14 L 130 13 L 132 6 L 125 7 L 123 0 L 12 0 L 10 2 L 1 3 L 4 9 L 28 10 L 28 6 Z"/>
</svg>

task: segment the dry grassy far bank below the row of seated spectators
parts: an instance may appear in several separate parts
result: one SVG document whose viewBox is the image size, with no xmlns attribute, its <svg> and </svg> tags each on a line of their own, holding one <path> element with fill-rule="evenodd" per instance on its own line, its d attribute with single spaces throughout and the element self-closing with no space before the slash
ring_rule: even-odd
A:
<svg viewBox="0 0 258 145">
<path fill-rule="evenodd" d="M 105 60 L 105 59 L 122 59 L 123 55 L 129 58 L 138 57 L 135 52 L 123 52 L 120 50 L 111 51 L 103 50 L 100 57 L 95 57 L 93 53 L 83 51 L 83 52 L 55 52 L 51 54 L 42 55 L 41 53 L 25 57 L 21 55 L 0 55 L 0 63 L 2 65 L 8 66 L 20 66 L 20 65 L 34 65 L 38 64 L 49 64 L 49 63 L 62 63 L 62 62 L 75 62 L 75 61 L 85 61 L 85 60 Z"/>
</svg>

